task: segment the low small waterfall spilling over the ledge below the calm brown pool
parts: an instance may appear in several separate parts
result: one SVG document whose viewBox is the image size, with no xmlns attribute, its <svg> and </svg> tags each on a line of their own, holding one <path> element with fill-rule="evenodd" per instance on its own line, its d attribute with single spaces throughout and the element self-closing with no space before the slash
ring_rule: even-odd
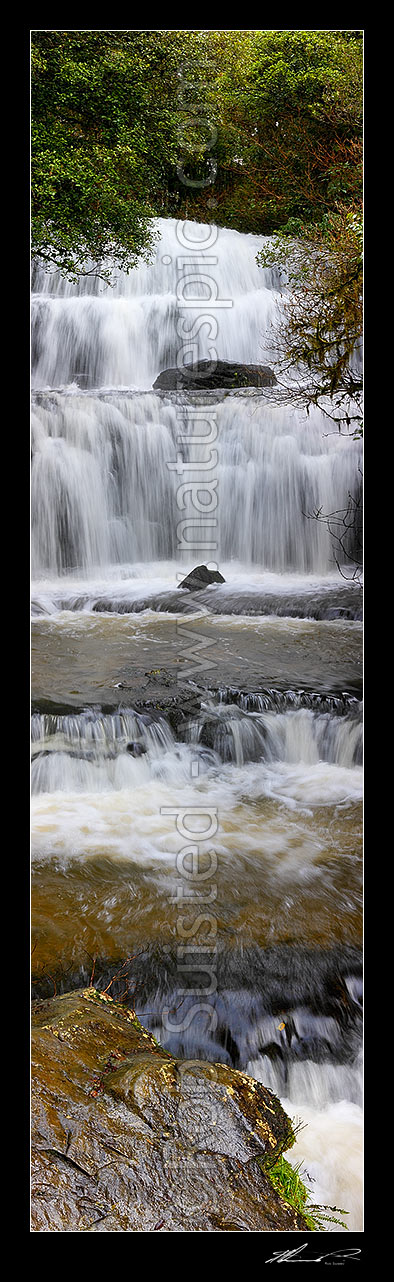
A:
<svg viewBox="0 0 394 1282">
<path fill-rule="evenodd" d="M 85 712 L 32 717 L 32 792 L 100 791 L 149 783 L 163 772 L 175 783 L 182 762 L 199 756 L 199 773 L 218 769 L 221 762 L 237 767 L 248 762 L 316 765 L 330 762 L 350 769 L 362 762 L 362 708 L 317 712 L 243 712 L 236 705 L 208 703 L 184 727 L 177 744 L 163 718 L 149 719 L 132 709 L 114 714 Z M 190 745 L 190 747 L 189 747 Z M 193 751 L 191 751 L 193 747 Z M 128 755 L 131 753 L 131 755 Z M 136 760 L 133 759 L 136 758 Z"/>
</svg>

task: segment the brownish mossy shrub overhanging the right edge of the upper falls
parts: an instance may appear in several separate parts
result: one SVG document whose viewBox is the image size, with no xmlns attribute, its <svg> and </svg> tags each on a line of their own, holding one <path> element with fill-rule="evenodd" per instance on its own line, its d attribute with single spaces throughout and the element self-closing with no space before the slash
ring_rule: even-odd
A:
<svg viewBox="0 0 394 1282">
<path fill-rule="evenodd" d="M 336 208 L 307 228 L 289 222 L 258 260 L 285 278 L 272 336 L 282 399 L 318 405 L 339 428 L 361 435 L 361 213 Z"/>
</svg>

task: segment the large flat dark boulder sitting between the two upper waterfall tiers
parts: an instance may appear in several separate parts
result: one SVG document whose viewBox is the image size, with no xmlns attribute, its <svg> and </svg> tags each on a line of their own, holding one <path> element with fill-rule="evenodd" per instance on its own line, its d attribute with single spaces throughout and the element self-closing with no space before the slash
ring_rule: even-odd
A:
<svg viewBox="0 0 394 1282">
<path fill-rule="evenodd" d="M 182 369 L 163 369 L 154 382 L 155 390 L 204 391 L 216 387 L 273 387 L 276 377 L 270 365 L 241 365 L 232 360 L 199 360 Z"/>
</svg>

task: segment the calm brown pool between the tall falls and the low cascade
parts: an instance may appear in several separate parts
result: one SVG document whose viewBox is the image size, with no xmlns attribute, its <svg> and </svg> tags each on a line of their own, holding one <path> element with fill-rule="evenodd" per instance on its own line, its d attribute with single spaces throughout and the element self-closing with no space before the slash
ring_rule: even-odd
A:
<svg viewBox="0 0 394 1282">
<path fill-rule="evenodd" d="M 212 644 L 199 650 L 199 637 Z M 184 679 L 359 694 L 361 674 L 362 624 L 353 620 L 63 612 L 32 622 L 33 705 L 130 703 L 175 692 Z"/>
</svg>

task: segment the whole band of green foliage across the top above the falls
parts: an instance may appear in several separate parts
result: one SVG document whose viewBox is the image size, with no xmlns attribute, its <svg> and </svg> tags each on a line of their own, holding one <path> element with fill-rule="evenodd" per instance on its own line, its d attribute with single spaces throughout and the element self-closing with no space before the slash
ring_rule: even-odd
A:
<svg viewBox="0 0 394 1282">
<path fill-rule="evenodd" d="M 65 273 L 132 267 L 158 214 L 271 233 L 352 208 L 361 145 L 359 32 L 32 33 L 32 253 Z"/>
</svg>

